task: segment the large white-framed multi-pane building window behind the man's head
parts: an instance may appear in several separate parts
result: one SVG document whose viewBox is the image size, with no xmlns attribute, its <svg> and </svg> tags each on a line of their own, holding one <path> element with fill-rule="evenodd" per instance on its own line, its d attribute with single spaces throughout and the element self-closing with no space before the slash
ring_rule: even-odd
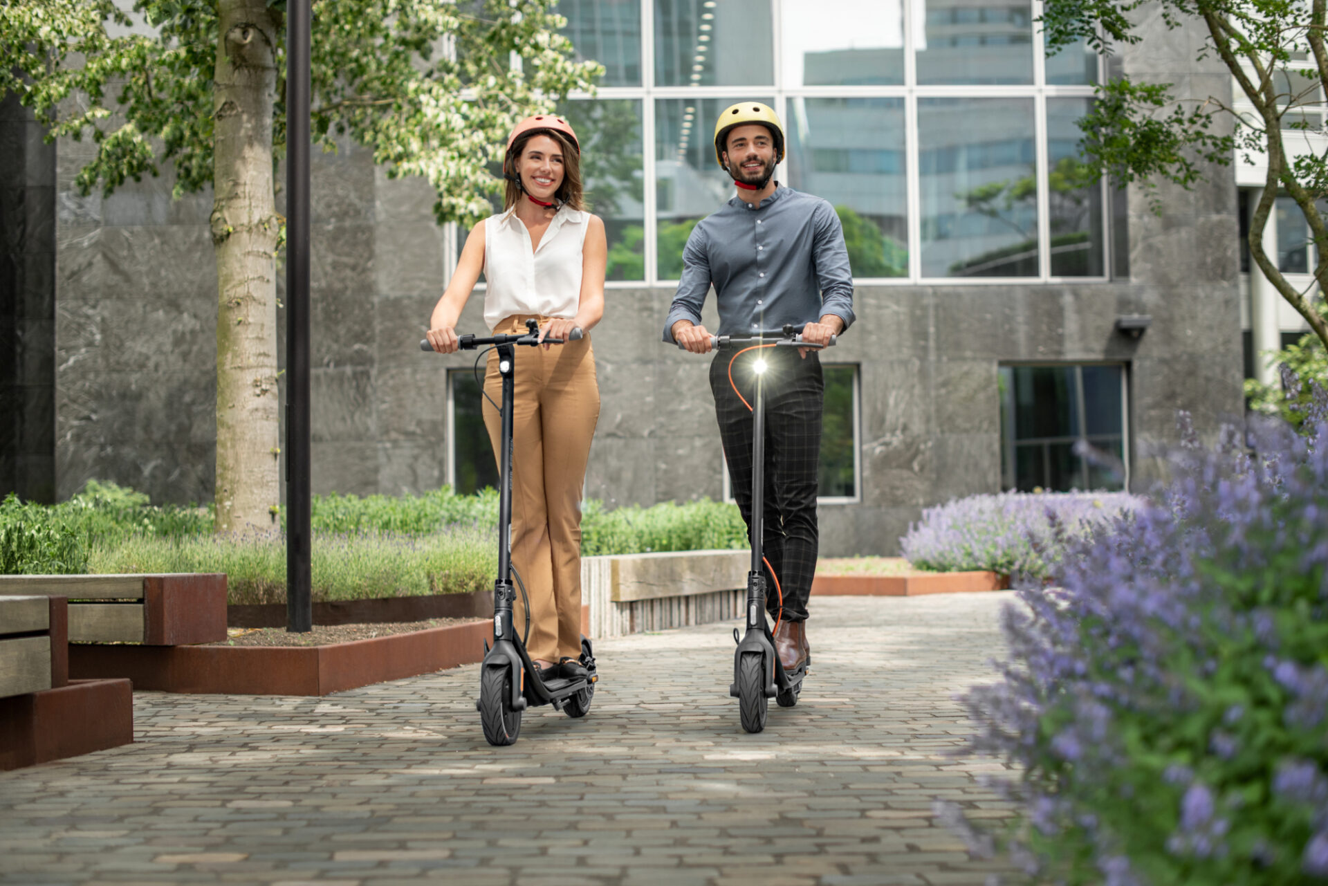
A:
<svg viewBox="0 0 1328 886">
<path fill-rule="evenodd" d="M 558 12 L 576 56 L 606 66 L 594 96 L 560 109 L 591 134 L 612 286 L 679 279 L 696 222 L 734 195 L 712 138 L 718 112 L 744 100 L 784 120 L 776 175 L 835 207 L 859 282 L 1127 274 L 1123 191 L 1076 163 L 1102 61 L 1082 41 L 1048 54 L 1038 0 L 562 0 Z"/>
</svg>

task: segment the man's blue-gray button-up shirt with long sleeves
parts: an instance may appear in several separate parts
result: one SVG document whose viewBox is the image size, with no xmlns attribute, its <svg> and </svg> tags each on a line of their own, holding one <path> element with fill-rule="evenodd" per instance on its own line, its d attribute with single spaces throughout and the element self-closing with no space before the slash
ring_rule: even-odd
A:
<svg viewBox="0 0 1328 886">
<path fill-rule="evenodd" d="M 853 272 L 839 217 L 829 202 L 777 187 L 758 206 L 734 197 L 701 219 L 683 248 L 683 279 L 664 321 L 701 321 L 714 284 L 717 335 L 815 323 L 833 313 L 853 324 Z"/>
</svg>

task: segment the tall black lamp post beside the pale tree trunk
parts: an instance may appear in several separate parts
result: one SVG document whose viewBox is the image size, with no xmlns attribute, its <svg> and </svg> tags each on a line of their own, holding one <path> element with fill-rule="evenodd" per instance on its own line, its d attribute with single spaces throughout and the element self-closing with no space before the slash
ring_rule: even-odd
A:
<svg viewBox="0 0 1328 886">
<path fill-rule="evenodd" d="M 286 630 L 313 627 L 309 598 L 309 20 L 286 4 Z"/>
</svg>

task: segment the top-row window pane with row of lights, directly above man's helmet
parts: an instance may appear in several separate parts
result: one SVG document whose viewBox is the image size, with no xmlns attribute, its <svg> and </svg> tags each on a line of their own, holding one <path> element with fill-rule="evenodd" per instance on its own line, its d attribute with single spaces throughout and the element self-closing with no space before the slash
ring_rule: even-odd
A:
<svg viewBox="0 0 1328 886">
<path fill-rule="evenodd" d="M 773 43 L 769 0 L 655 0 L 657 86 L 773 84 Z"/>
</svg>

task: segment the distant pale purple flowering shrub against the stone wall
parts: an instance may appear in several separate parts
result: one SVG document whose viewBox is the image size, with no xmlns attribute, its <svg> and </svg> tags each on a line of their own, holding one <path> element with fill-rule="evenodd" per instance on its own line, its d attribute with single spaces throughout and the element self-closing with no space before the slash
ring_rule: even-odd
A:
<svg viewBox="0 0 1328 886">
<path fill-rule="evenodd" d="M 1046 579 L 1065 545 L 1133 511 L 1127 493 L 1001 493 L 923 510 L 899 539 L 918 569 L 992 570 Z"/>
</svg>

